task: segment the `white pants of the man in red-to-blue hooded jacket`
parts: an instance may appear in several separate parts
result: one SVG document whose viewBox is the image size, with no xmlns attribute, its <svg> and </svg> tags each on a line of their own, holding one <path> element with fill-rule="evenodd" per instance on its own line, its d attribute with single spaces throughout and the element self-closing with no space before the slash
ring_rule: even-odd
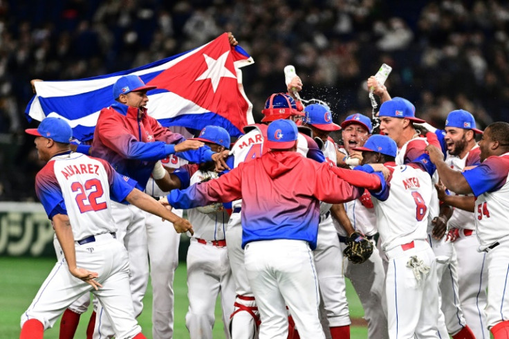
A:
<svg viewBox="0 0 509 339">
<path fill-rule="evenodd" d="M 244 253 L 261 315 L 259 338 L 287 338 L 286 306 L 301 338 L 325 338 L 318 318 L 317 273 L 308 243 L 289 239 L 252 241 Z"/>
</svg>

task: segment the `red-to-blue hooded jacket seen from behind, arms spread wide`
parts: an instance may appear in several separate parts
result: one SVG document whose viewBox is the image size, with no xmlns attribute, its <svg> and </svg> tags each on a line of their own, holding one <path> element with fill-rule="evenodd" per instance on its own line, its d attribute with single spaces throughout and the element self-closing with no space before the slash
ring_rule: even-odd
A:
<svg viewBox="0 0 509 339">
<path fill-rule="evenodd" d="M 380 178 L 365 177 L 364 187 L 380 187 Z M 296 239 L 308 241 L 315 249 L 320 201 L 344 203 L 362 192 L 364 188 L 340 179 L 328 163 L 317 163 L 297 152 L 268 152 L 216 180 L 173 190 L 167 197 L 174 208 L 242 199 L 242 247 L 250 241 Z"/>
</svg>

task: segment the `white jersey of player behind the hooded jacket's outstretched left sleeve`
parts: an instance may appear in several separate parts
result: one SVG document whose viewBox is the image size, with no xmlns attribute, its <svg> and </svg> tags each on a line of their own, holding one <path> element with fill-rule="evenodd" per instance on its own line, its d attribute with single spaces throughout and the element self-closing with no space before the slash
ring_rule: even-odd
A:
<svg viewBox="0 0 509 339">
<path fill-rule="evenodd" d="M 196 167 L 189 166 L 190 168 Z M 214 172 L 202 172 L 197 170 L 191 175 L 190 185 L 200 183 L 207 177 L 217 177 Z M 205 240 L 223 240 L 225 239 L 225 227 L 230 220 L 230 216 L 225 210 L 215 213 L 202 213 L 196 208 L 187 210 L 187 219 L 193 226 L 194 235 L 192 237 Z M 188 233 L 190 236 L 190 234 Z"/>
</svg>

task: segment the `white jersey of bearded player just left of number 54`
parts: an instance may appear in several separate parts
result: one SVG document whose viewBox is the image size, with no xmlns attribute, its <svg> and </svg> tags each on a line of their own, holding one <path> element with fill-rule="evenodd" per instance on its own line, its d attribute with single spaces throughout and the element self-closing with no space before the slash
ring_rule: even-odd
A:
<svg viewBox="0 0 509 339">
<path fill-rule="evenodd" d="M 463 158 L 452 156 L 447 152 L 445 163 L 453 170 L 463 172 L 465 167 L 476 166 L 481 163 L 481 159 L 479 158 L 480 154 L 481 150 L 478 145 L 475 145 Z M 449 228 L 467 228 L 468 230 L 475 230 L 474 213 L 455 208 L 447 225 Z"/>
</svg>

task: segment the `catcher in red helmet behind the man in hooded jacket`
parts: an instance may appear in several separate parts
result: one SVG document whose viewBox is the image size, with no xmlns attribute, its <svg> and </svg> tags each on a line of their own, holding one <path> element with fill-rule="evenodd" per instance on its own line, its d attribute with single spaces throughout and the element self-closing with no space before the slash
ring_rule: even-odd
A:
<svg viewBox="0 0 509 339">
<path fill-rule="evenodd" d="M 299 77 L 295 77 L 288 85 L 288 87 L 290 86 L 302 89 L 302 82 L 300 82 Z M 244 128 L 246 134 L 241 136 L 233 145 L 230 158 L 228 158 L 231 168 L 258 158 L 268 151 L 263 144 L 263 140 L 266 139 L 267 135 L 267 125 L 265 123 L 281 118 L 296 120 L 304 116 L 304 113 L 297 110 L 295 100 L 285 93 L 270 95 L 261 113 L 263 113 L 263 119 L 261 120 L 263 123 L 246 126 Z M 304 127 L 305 129 L 307 128 Z M 307 130 L 309 131 L 309 129 Z M 298 140 L 297 151 L 300 154 L 313 158 L 318 162 L 325 161 L 322 151 L 310 136 L 299 133 Z M 228 257 L 232 267 L 235 292 L 237 293 L 234 303 L 235 309 L 231 318 L 232 338 L 234 339 L 253 338 L 259 326 L 259 313 L 244 268 L 244 253 L 241 248 L 241 203 L 241 200 L 232 203 L 232 215 L 226 228 L 225 238 L 228 243 Z"/>
</svg>

